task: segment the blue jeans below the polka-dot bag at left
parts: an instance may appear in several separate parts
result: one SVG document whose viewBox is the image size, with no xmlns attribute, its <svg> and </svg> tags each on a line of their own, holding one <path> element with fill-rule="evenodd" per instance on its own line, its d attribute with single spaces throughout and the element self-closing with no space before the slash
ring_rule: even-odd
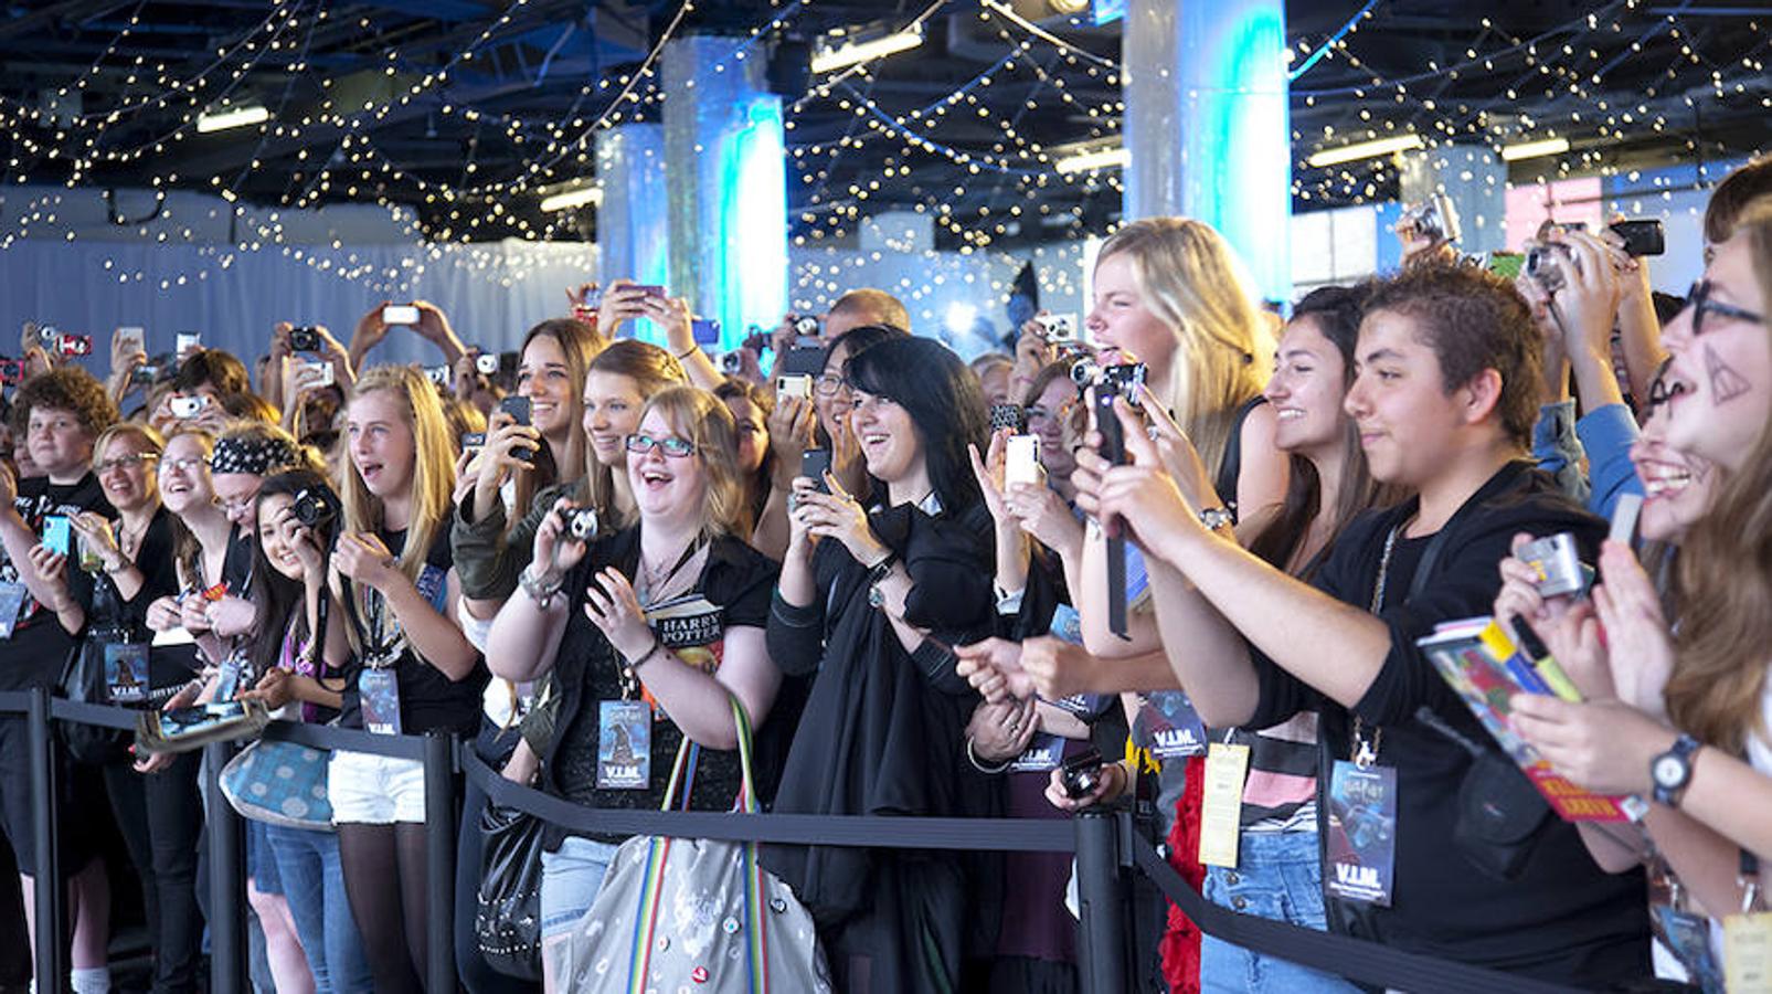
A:
<svg viewBox="0 0 1772 994">
<path fill-rule="evenodd" d="M 338 833 L 266 826 L 301 951 L 321 994 L 374 990 L 338 865 Z"/>
</svg>

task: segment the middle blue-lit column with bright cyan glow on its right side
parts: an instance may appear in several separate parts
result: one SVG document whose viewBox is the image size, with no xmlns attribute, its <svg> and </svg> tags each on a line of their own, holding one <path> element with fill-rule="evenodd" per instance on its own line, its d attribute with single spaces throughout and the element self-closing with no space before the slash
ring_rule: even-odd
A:
<svg viewBox="0 0 1772 994">
<path fill-rule="evenodd" d="M 721 322 L 719 349 L 787 312 L 787 151 L 762 48 L 732 37 L 664 46 L 670 289 Z"/>
</svg>

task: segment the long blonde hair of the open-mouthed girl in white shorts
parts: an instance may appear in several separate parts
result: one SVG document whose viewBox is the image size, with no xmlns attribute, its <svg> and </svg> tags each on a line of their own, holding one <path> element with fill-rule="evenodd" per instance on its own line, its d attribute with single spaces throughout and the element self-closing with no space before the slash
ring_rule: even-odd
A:
<svg viewBox="0 0 1772 994">
<path fill-rule="evenodd" d="M 404 420 L 413 432 L 413 514 L 406 526 L 406 547 L 400 549 L 400 572 L 416 583 L 431 555 L 431 544 L 448 526 L 455 478 L 454 448 L 436 388 L 416 367 L 377 365 L 363 370 L 351 388 L 346 408 L 377 390 L 397 393 L 406 400 Z M 356 462 L 344 473 L 342 498 L 347 530 L 379 532 L 385 526 L 381 498 L 369 493 Z"/>
</svg>

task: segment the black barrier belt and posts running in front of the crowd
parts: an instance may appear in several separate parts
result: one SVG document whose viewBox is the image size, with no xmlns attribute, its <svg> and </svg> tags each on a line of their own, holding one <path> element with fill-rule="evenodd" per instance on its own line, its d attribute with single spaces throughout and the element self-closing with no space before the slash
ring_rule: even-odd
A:
<svg viewBox="0 0 1772 994">
<path fill-rule="evenodd" d="M 30 714 L 32 700 L 43 691 L 7 691 L 0 693 L 0 714 Z M 101 725 L 106 728 L 135 728 L 138 711 L 122 707 L 105 707 L 94 703 L 74 703 L 67 700 L 50 700 L 39 712 L 41 723 L 48 719 L 73 721 L 82 725 Z M 323 725 L 301 725 L 273 721 L 264 730 L 266 739 L 298 742 L 317 749 L 340 749 L 372 753 L 395 758 L 413 758 L 425 762 L 427 787 L 447 785 L 448 776 L 461 769 L 470 781 L 478 785 L 491 803 L 517 808 L 549 824 L 583 833 L 608 835 L 670 835 L 679 838 L 718 838 L 730 842 L 769 842 L 789 845 L 854 845 L 877 849 L 964 849 L 985 852 L 1076 852 L 1077 829 L 1069 822 L 1038 819 L 916 819 L 916 817 L 836 817 L 836 815 L 746 815 L 712 812 L 631 812 L 597 810 L 574 804 L 560 797 L 512 783 L 489 767 L 468 744 L 457 744 L 441 737 L 418 735 L 376 735 L 354 728 L 331 728 Z M 50 739 L 44 735 L 44 739 Z M 34 742 L 35 746 L 35 742 Z M 220 748 L 216 748 L 220 746 Z M 213 758 L 229 751 L 227 744 L 211 748 Z M 44 748 L 53 748 L 44 742 Z M 214 776 L 220 771 L 211 771 Z M 35 787 L 35 785 L 34 785 Z M 48 813 L 53 819 L 53 788 L 37 790 L 34 804 L 41 806 L 39 822 Z M 211 785 L 213 787 L 213 785 Z M 427 796 L 431 790 L 427 790 Z M 427 812 L 436 819 L 445 804 L 452 806 L 452 792 L 436 790 L 436 808 Z M 448 796 L 448 797 L 445 797 Z M 220 804 L 223 819 L 230 808 Z M 448 817 L 439 819 L 443 822 Z M 1129 858 L 1129 865 L 1145 874 L 1157 888 L 1182 909 L 1205 934 L 1233 943 L 1260 955 L 1272 955 L 1301 966 L 1336 973 L 1361 983 L 1372 983 L 1400 990 L 1435 990 L 1444 994 L 1488 994 L 1492 990 L 1510 990 L 1517 994 L 1565 994 L 1568 987 L 1531 980 L 1512 973 L 1490 971 L 1453 960 L 1405 953 L 1391 946 L 1380 946 L 1363 939 L 1336 936 L 1301 928 L 1285 921 L 1239 914 L 1232 909 L 1205 900 L 1200 891 L 1189 886 L 1168 861 L 1157 854 L 1152 843 L 1131 831 L 1125 815 L 1113 819 L 1116 831 L 1092 833 L 1104 847 L 1122 849 L 1108 863 Z M 223 833 L 227 835 L 227 833 Z M 53 838 L 51 852 L 53 852 Z M 1123 847 L 1131 847 L 1129 852 Z M 230 863 L 239 856 L 230 854 Z M 454 847 L 432 854 L 438 861 L 454 858 Z M 1102 854 L 1092 854 L 1102 856 Z M 51 856 L 53 859 L 53 856 Z M 1092 859 L 1099 861 L 1099 859 Z M 439 877 L 432 870 L 434 879 Z M 55 900 L 58 888 L 37 888 L 39 898 Z M 432 895 L 438 900 L 438 895 Z M 43 904 L 43 902 L 39 902 Z M 448 907 L 447 900 L 438 904 Z M 50 916 L 55 920 L 55 916 Z M 1086 925 L 1086 923 L 1084 923 Z M 44 930 L 48 932 L 48 930 Z M 443 927 L 438 927 L 443 932 Z M 1109 930 L 1111 932 L 1111 930 Z M 39 946 L 58 946 L 46 934 L 39 934 Z M 1111 943 L 1104 943 L 1111 953 Z M 438 946 L 432 939 L 432 946 Z M 441 948 L 448 950 L 450 943 Z M 41 953 L 50 950 L 41 948 Z M 1081 951 L 1081 950 L 1079 950 Z M 438 957 L 432 957 L 438 959 Z M 58 957 L 44 957 L 44 964 L 58 962 Z M 432 978 L 441 978 L 443 960 L 431 966 Z M 452 967 L 448 967 L 452 969 Z M 216 971 L 220 990 L 230 990 L 222 971 Z"/>
</svg>

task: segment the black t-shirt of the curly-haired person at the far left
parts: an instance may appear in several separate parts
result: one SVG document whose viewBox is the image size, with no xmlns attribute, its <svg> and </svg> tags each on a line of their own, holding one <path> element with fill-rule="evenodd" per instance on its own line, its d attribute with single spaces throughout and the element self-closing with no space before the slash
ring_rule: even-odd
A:
<svg viewBox="0 0 1772 994">
<path fill-rule="evenodd" d="M 48 477 L 19 480 L 12 509 L 18 510 L 25 524 L 39 537 L 43 535 L 43 519 L 53 514 L 71 517 L 83 510 L 96 510 L 105 517 L 117 516 L 110 501 L 105 500 L 99 478 L 92 473 L 73 484 L 51 484 Z M 69 572 L 80 572 L 73 547 L 74 540 L 71 539 L 69 546 Z M 5 553 L 0 551 L 0 558 L 4 556 Z M 0 581 L 23 583 L 18 565 L 9 558 L 0 562 Z M 60 679 L 73 645 L 73 636 L 55 620 L 55 613 L 44 610 L 43 604 L 37 604 L 27 594 L 12 638 L 0 640 L 0 691 L 51 686 Z"/>
</svg>

